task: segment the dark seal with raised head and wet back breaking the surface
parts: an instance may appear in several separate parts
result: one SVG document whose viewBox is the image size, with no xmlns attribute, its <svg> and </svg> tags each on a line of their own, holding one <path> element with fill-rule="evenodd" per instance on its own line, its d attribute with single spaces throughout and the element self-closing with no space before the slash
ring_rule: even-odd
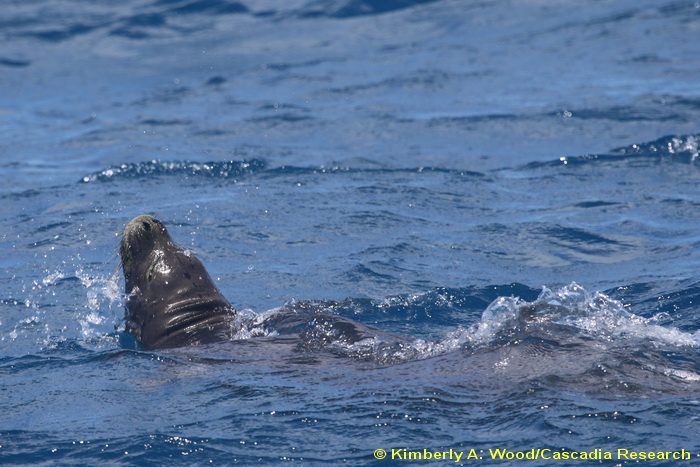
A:
<svg viewBox="0 0 700 467">
<path fill-rule="evenodd" d="M 231 340 L 256 319 L 237 316 L 202 263 L 177 246 L 162 222 L 141 215 L 124 228 L 119 248 L 126 281 L 125 331 L 146 350 Z M 330 305 L 330 306 L 328 306 Z M 300 302 L 270 310 L 261 333 L 292 336 L 302 351 L 363 340 L 405 342 L 400 336 L 349 318 L 324 313 L 337 302 Z M 307 309 L 308 308 L 308 309 Z M 320 312 L 318 312 L 320 311 Z"/>
</svg>

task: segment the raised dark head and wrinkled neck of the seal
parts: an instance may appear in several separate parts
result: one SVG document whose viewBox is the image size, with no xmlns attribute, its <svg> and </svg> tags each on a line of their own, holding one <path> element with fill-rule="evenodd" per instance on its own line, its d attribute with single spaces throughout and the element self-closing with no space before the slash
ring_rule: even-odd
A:
<svg viewBox="0 0 700 467">
<path fill-rule="evenodd" d="M 177 246 L 155 217 L 124 228 L 119 254 L 126 281 L 126 327 L 147 350 L 230 339 L 236 311 L 202 263 Z"/>
</svg>

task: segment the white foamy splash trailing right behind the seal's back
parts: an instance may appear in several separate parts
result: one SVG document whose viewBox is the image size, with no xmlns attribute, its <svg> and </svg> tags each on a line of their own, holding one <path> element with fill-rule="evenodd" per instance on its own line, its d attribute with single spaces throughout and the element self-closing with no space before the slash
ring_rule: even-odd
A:
<svg viewBox="0 0 700 467">
<path fill-rule="evenodd" d="M 700 347 L 700 335 L 660 325 L 670 317 L 660 313 L 644 318 L 631 313 L 620 301 L 601 292 L 588 292 L 576 283 L 560 289 L 542 288 L 534 301 L 499 297 L 484 310 L 481 320 L 458 326 L 437 340 L 386 342 L 367 339 L 353 344 L 332 342 L 356 358 L 373 358 L 380 364 L 421 360 L 455 351 L 469 353 L 546 339 L 554 345 L 588 339 L 605 347 L 635 348 L 644 343 L 672 349 Z"/>
</svg>

